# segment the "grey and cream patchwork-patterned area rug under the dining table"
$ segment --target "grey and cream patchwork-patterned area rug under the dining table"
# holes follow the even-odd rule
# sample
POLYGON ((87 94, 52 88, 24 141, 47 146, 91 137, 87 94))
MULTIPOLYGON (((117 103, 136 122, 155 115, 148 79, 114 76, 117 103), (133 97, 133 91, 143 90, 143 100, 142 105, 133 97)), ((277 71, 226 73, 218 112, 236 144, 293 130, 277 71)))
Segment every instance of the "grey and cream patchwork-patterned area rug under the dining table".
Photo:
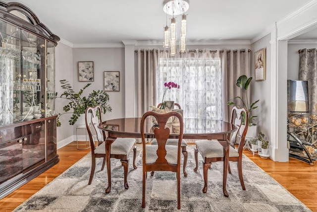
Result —
POLYGON ((123 187, 123 166, 118 159, 111 159, 112 187, 109 194, 105 193, 106 168, 100 171, 102 158, 97 158, 96 173, 92 184, 88 185, 91 168, 91 153, 88 153, 14 212, 310 212, 245 155, 243 176, 246 191, 241 188, 236 163, 230 162, 229 197, 224 197, 223 163, 216 162, 208 172, 208 191, 204 194, 202 158, 199 155, 199 169, 194 172, 193 145, 188 146, 188 176, 181 175, 181 209, 177 210, 175 174, 162 171, 153 177, 148 173, 146 208, 142 209, 142 145, 138 144, 137 149, 136 170, 132 167, 133 154, 130 155, 128 190, 123 187))

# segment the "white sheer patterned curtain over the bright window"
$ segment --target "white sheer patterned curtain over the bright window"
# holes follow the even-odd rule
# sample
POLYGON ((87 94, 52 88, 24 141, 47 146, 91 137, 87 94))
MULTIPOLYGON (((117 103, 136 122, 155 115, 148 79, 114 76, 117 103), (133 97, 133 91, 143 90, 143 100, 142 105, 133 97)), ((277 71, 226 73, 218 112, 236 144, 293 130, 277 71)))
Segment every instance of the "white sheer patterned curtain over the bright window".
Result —
POLYGON ((157 103, 162 101, 164 82, 175 82, 180 89, 168 90, 164 100, 173 100, 184 110, 186 132, 199 132, 210 121, 223 119, 223 90, 219 51, 204 49, 187 51, 169 57, 166 50, 159 53, 157 71, 157 103))

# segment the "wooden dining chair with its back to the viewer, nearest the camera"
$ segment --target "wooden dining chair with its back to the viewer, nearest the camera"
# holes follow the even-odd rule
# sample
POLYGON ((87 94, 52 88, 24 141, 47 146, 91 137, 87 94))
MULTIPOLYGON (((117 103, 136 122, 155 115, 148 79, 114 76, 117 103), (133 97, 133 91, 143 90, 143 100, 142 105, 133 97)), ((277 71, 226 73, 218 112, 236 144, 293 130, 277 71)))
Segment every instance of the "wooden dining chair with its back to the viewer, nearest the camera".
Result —
POLYGON ((142 208, 145 208, 145 188, 147 172, 149 171, 171 171, 176 173, 177 180, 177 209, 180 209, 180 151, 183 139, 183 118, 180 113, 169 112, 158 114, 153 111, 146 112, 141 119, 141 137, 143 144, 143 191, 142 191, 142 208), (155 125, 153 133, 157 139, 158 145, 147 145, 145 134, 148 133, 144 129, 144 123, 148 116, 153 116, 158 124, 155 125), (169 117, 175 116, 180 122, 179 134, 173 134, 178 137, 177 145, 167 145, 167 139, 171 132, 169 128, 165 128, 169 117))

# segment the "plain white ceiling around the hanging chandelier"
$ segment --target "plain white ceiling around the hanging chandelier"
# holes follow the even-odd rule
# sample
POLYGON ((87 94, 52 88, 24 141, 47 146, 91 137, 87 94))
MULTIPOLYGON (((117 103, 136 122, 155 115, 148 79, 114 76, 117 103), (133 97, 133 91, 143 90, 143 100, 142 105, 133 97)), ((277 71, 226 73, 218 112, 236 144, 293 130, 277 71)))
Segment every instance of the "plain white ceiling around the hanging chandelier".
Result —
MULTIPOLYGON (((163 0, 13 1, 29 7, 54 34, 73 45, 161 42, 166 25, 163 0)), ((190 0, 187 41, 250 41, 310 1, 190 0)))

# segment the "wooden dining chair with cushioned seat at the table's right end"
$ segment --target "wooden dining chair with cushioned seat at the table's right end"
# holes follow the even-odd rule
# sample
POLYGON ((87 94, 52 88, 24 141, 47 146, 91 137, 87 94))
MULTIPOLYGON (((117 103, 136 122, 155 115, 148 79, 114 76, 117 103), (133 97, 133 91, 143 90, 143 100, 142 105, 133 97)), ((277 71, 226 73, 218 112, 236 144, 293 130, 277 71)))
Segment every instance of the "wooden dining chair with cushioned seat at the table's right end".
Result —
MULTIPOLYGON (((240 126, 242 123, 242 120, 249 120, 249 114, 246 111, 246 109, 238 109, 237 107, 233 107, 231 110, 231 121, 230 123, 237 126, 238 130, 233 133, 233 136, 228 138, 228 141, 230 141, 229 145, 229 161, 235 161, 237 162, 237 168, 238 168, 238 174, 240 183, 243 190, 246 190, 244 182, 243 182, 243 176, 242 176, 242 150, 244 141, 246 138, 246 134, 248 131, 248 125, 246 125, 245 129, 243 130, 243 133, 241 134, 240 141, 238 143, 238 148, 235 148, 234 143, 237 141, 237 135, 240 130, 240 126)), ((228 135, 230 137, 230 135, 228 135)), ((204 188, 203 192, 207 192, 207 186, 208 186, 208 169, 211 167, 212 162, 217 161, 223 161, 224 160, 224 149, 223 146, 216 140, 200 140, 195 141, 196 143, 196 149, 195 149, 195 161, 196 161, 196 167, 194 171, 196 172, 198 170, 198 152, 203 157, 203 173, 204 173, 204 188)), ((231 174, 230 165, 228 166, 228 172, 231 174)))

